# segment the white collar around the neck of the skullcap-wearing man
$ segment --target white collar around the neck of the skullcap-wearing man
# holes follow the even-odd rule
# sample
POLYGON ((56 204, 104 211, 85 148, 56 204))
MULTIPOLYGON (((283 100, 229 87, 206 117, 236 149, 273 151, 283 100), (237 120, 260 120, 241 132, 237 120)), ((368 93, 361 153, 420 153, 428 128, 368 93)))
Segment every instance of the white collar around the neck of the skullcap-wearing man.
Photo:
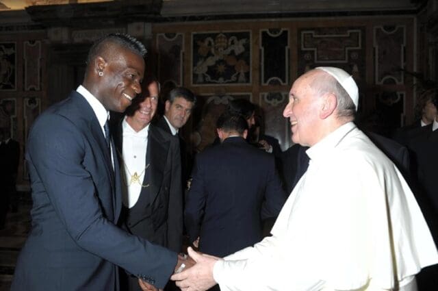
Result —
POLYGON ((307 155, 309 155, 310 159, 313 162, 315 160, 320 160, 327 155, 330 155, 330 153, 327 152, 327 149, 332 149, 333 147, 336 147, 336 145, 344 138, 344 136, 346 136, 348 132, 352 131, 352 129, 355 128, 356 125, 352 122, 341 125, 331 134, 314 144, 313 147, 307 149, 307 155))

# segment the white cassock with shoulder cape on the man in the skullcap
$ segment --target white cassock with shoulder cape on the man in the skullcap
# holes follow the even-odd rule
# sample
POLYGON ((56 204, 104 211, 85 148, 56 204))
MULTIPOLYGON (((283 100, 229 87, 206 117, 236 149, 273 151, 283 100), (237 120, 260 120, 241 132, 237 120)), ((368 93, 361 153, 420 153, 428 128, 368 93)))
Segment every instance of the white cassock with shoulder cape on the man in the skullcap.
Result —
POLYGON ((272 237, 216 262, 227 290, 410 290, 438 263, 420 207, 394 164, 354 123, 307 154, 309 168, 272 237))

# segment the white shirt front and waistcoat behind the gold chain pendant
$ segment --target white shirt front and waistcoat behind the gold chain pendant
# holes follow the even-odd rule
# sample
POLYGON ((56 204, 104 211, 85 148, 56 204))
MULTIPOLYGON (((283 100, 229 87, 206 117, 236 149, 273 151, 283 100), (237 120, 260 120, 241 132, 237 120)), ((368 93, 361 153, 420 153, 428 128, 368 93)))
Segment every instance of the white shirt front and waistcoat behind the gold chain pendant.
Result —
POLYGON ((123 129, 123 205, 133 207, 136 205, 146 173, 146 149, 148 147, 149 125, 136 132, 127 123, 126 118, 122 122, 123 129), (138 181, 132 177, 137 173, 138 181))

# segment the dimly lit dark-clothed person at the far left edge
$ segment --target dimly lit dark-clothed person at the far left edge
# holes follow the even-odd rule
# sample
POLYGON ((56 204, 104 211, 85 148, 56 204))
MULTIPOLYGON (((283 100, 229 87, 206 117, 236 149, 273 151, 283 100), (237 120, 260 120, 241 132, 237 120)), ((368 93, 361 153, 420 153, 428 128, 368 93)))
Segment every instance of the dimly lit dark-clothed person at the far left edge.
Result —
POLYGON ((10 205, 16 212, 16 177, 20 160, 20 144, 11 138, 10 129, 0 128, 0 229, 5 227, 10 205))

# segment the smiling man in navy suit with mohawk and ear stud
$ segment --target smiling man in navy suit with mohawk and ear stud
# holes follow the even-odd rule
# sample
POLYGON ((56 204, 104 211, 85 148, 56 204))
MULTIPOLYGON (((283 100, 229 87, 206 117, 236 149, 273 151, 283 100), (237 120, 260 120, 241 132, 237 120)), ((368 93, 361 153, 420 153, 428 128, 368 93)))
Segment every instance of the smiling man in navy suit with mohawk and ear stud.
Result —
POLYGON ((26 153, 32 227, 12 291, 118 290, 118 266, 164 288, 181 266, 174 251, 116 226, 122 194, 108 111, 140 94, 145 53, 125 34, 98 40, 83 84, 35 121, 26 153))

